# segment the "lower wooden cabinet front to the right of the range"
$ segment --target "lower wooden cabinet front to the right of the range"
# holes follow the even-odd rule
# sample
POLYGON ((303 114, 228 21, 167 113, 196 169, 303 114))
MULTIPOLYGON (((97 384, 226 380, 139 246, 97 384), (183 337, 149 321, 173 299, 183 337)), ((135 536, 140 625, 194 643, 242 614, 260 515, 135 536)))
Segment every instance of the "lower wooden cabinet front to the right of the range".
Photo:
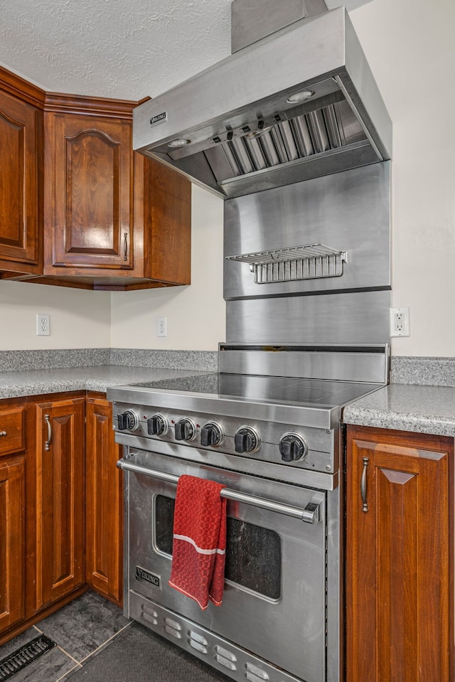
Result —
POLYGON ((452 440, 348 427, 347 678, 449 681, 452 440))

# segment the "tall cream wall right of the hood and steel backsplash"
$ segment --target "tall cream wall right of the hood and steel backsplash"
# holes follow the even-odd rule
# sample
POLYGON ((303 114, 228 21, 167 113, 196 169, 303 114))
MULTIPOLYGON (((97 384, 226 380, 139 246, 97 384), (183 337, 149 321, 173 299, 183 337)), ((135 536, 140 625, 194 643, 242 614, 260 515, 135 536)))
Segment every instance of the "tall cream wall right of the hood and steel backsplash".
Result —
POLYGON ((393 123, 393 355, 455 356, 454 0, 374 0, 350 14, 393 123))

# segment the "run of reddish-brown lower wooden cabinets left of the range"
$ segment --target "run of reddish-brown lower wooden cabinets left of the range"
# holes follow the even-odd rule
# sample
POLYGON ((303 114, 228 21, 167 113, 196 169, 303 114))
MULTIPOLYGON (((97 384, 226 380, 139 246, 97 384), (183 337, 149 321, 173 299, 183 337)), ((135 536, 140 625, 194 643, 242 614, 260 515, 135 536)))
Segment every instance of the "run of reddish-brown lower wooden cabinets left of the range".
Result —
POLYGON ((104 394, 0 400, 0 645, 87 585, 122 604, 120 456, 104 394))

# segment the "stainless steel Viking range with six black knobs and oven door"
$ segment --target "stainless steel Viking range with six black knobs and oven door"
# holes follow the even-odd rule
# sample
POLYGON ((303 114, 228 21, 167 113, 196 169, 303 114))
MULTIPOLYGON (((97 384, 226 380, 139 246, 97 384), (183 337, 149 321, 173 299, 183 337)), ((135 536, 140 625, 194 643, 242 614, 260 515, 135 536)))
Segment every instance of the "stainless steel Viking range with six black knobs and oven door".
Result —
POLYGON ((387 347, 223 345, 220 368, 109 390, 125 446, 125 614, 238 682, 338 680, 340 411, 385 383, 387 347), (286 375, 250 373, 260 366, 286 375), (318 378, 325 366, 333 380, 318 378), (181 474, 226 486, 225 595, 206 611, 168 586, 181 474))

